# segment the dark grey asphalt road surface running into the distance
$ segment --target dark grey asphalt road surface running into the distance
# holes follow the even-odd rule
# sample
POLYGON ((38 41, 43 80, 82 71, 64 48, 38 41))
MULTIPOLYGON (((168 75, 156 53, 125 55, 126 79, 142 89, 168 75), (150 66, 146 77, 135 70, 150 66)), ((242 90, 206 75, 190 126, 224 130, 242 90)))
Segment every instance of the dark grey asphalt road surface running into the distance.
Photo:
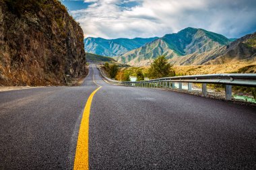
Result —
POLYGON ((0 169, 73 169, 96 84, 90 169, 256 169, 256 108, 110 85, 95 66, 81 87, 0 92, 0 169))

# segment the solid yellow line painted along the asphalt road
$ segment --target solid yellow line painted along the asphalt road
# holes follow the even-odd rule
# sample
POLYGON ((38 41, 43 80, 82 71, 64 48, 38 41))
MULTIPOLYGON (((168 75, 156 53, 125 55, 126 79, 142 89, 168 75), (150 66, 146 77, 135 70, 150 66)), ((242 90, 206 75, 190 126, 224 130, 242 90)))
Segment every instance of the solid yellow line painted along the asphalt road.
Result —
POLYGON ((73 169, 89 169, 89 118, 90 108, 94 94, 101 88, 94 90, 89 96, 84 108, 75 151, 75 162, 73 169))

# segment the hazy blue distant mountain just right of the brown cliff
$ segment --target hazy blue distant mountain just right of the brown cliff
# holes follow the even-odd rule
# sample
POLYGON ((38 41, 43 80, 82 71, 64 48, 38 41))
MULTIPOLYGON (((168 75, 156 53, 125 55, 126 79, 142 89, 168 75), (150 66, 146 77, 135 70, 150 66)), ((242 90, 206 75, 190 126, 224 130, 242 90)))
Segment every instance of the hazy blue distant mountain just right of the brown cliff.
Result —
POLYGON ((130 50, 139 48, 148 42, 152 42, 153 40, 156 40, 156 38, 157 37, 133 39, 117 38, 113 40, 106 40, 104 38, 89 37, 84 40, 84 48, 86 52, 93 54, 102 56, 119 56, 130 50))

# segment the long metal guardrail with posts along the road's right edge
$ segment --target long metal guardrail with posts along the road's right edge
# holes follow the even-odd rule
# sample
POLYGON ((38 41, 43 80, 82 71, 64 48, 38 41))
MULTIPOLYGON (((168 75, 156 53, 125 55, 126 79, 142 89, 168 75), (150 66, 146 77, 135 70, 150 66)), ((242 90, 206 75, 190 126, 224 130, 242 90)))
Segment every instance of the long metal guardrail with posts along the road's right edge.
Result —
POLYGON ((256 87, 256 74, 214 74, 214 75, 187 75, 177 77, 164 77, 149 81, 124 81, 123 85, 138 87, 170 87, 174 88, 174 83, 188 83, 188 90, 192 90, 192 83, 202 83, 203 95, 207 95, 207 83, 226 85, 226 99, 232 98, 232 85, 256 87))

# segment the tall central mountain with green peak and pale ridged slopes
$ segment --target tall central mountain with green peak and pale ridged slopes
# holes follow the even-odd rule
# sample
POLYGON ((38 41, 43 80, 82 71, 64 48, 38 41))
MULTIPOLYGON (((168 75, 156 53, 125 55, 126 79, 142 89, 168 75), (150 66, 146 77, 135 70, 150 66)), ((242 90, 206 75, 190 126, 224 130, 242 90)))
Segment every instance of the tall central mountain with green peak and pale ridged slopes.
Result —
POLYGON ((128 65, 149 65, 159 55, 166 55, 166 58, 169 59, 181 58, 181 56, 189 54, 201 54, 216 50, 226 44, 230 44, 230 40, 220 34, 203 29, 185 28, 177 34, 166 34, 162 38, 115 58, 128 65))

